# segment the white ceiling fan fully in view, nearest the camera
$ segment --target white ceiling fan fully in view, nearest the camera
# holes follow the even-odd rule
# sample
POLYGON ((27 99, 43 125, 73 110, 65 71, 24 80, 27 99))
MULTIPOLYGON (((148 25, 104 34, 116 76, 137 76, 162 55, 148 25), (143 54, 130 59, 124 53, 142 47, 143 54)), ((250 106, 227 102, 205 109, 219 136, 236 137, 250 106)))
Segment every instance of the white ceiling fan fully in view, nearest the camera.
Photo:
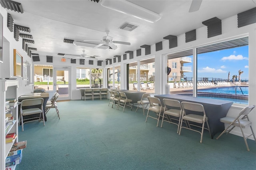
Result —
POLYGON ((117 49, 117 46, 114 43, 120 43, 124 45, 131 45, 129 42, 119 42, 119 41, 113 41, 113 38, 108 36, 110 32, 106 31, 107 36, 103 36, 102 40, 84 40, 84 42, 100 42, 98 45, 96 45, 93 48, 98 48, 102 45, 108 45, 112 49, 117 49))

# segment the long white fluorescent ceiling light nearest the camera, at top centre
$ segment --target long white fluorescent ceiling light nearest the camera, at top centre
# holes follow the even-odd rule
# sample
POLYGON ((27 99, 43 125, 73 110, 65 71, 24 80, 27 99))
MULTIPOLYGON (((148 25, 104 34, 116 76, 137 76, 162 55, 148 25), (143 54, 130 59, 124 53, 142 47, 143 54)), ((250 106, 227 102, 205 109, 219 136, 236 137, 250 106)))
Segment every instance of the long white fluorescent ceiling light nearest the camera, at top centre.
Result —
POLYGON ((142 8, 141 6, 133 4, 127 0, 101 0, 100 4, 111 10, 115 10, 117 12, 121 12, 123 14, 127 14, 151 23, 156 22, 161 18, 159 14, 147 10, 146 8, 142 8))

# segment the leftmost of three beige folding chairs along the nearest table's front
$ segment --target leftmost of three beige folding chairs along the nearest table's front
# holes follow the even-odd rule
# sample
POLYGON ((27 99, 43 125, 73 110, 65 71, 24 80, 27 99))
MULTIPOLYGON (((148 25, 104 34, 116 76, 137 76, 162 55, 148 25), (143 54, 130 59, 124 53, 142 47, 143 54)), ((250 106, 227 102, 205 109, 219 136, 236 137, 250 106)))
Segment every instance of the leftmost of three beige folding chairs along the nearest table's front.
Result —
POLYGON ((148 96, 148 101, 150 102, 150 107, 148 108, 146 122, 148 120, 148 117, 156 119, 157 120, 156 126, 158 127, 159 119, 162 116, 161 113, 164 111, 164 107, 162 107, 161 101, 157 97, 148 96), (150 116, 149 111, 156 113, 156 117, 150 116))

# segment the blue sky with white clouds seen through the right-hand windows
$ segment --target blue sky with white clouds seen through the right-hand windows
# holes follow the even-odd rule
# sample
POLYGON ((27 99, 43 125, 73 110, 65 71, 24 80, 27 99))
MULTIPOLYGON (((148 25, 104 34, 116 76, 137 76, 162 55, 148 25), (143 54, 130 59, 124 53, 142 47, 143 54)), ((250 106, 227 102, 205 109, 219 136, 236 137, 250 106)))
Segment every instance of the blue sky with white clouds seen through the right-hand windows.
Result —
MULTIPOLYGON (((233 75, 237 75, 238 78, 238 70, 241 70, 244 71, 241 79, 248 79, 248 58, 248 45, 198 54, 198 77, 228 79, 230 71, 230 79, 232 79, 233 75)), ((192 63, 184 64, 184 66, 193 68, 192 63)), ((192 73, 184 74, 186 77, 192 77, 192 73)))

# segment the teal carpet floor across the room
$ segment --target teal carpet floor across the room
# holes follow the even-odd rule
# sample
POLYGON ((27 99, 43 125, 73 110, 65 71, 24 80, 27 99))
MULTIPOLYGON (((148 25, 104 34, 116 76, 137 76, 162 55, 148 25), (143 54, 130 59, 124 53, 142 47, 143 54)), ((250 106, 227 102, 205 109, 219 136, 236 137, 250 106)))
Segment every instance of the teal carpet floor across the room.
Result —
MULTIPOLYGON (((136 107, 108 107, 108 100, 58 102, 47 113, 46 125, 19 127, 18 140, 27 140, 16 170, 252 170, 256 144, 233 134, 216 140, 143 115, 136 107)), ((255 126, 255 125, 254 125, 255 126)))

